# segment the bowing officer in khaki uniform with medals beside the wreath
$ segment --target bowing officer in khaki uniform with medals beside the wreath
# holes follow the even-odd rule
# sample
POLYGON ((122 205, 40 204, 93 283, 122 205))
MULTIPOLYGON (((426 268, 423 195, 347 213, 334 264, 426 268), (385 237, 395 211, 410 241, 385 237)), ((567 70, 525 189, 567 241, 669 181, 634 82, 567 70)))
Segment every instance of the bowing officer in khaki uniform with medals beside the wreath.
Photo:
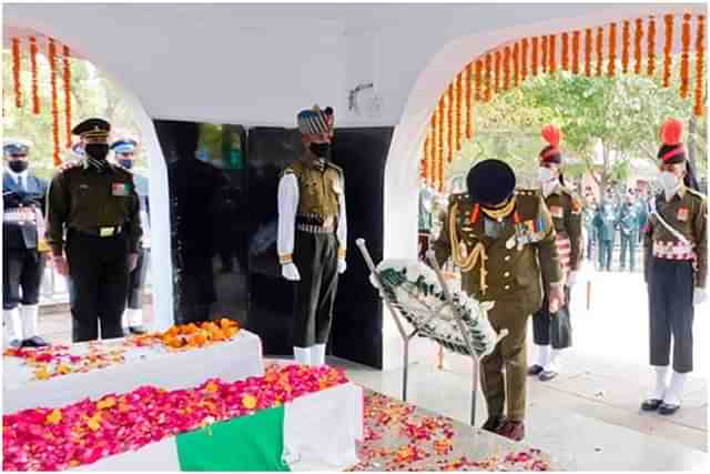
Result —
POLYGON ((539 191, 515 185, 515 174, 503 161, 476 164, 467 177, 468 193, 450 198, 434 250, 440 265, 452 256, 462 269, 464 291, 495 302, 488 312, 493 327, 508 330, 481 360, 488 405, 484 430, 519 441, 525 436, 528 316, 542 304, 542 279, 549 282, 552 313, 564 291, 552 218, 539 191))

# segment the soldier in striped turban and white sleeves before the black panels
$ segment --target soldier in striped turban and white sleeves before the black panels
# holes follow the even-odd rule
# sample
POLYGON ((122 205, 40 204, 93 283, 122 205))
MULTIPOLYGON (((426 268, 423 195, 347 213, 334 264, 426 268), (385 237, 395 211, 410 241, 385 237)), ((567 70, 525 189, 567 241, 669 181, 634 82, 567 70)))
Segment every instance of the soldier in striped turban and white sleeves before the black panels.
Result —
POLYGON ((305 365, 325 363, 337 275, 345 272, 347 221, 345 177, 329 162, 333 109, 297 117, 302 158, 278 182, 278 260, 295 284, 294 356, 305 365))

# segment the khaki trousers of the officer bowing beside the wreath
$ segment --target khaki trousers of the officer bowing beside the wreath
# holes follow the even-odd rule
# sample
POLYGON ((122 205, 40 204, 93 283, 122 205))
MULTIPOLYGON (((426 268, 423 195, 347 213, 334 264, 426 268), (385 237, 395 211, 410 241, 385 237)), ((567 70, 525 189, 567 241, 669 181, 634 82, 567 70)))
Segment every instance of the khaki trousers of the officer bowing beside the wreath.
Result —
POLYGON ((481 360, 480 382, 488 416, 501 416, 521 422, 525 418, 527 387, 527 322, 528 315, 515 309, 515 302, 496 302, 488 320, 496 332, 504 327, 508 335, 481 360))

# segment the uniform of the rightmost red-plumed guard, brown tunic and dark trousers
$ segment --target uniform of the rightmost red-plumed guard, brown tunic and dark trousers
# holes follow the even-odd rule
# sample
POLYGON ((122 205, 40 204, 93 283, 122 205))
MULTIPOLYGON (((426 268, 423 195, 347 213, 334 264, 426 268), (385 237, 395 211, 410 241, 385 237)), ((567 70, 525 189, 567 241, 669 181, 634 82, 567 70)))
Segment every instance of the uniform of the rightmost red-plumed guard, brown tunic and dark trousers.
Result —
POLYGON ((681 234, 682 242, 651 214, 643 234, 645 275, 649 293, 650 362, 670 364, 673 340, 673 371, 692 371, 693 289, 708 279, 708 204, 706 198, 687 188, 666 201, 656 196, 663 221, 681 234))

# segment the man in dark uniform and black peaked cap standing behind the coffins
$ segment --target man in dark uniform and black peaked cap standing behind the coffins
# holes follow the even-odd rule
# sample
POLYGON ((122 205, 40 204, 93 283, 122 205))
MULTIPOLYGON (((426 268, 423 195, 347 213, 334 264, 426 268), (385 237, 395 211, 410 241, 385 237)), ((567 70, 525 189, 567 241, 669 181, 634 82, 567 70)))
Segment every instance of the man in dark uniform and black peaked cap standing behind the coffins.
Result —
POLYGON ((129 272, 141 248, 133 175, 106 161, 110 130, 101 119, 74 127, 85 159, 60 170, 48 193, 48 242, 57 270, 73 285, 74 342, 98 339, 99 322, 102 339, 123 336, 129 272))

